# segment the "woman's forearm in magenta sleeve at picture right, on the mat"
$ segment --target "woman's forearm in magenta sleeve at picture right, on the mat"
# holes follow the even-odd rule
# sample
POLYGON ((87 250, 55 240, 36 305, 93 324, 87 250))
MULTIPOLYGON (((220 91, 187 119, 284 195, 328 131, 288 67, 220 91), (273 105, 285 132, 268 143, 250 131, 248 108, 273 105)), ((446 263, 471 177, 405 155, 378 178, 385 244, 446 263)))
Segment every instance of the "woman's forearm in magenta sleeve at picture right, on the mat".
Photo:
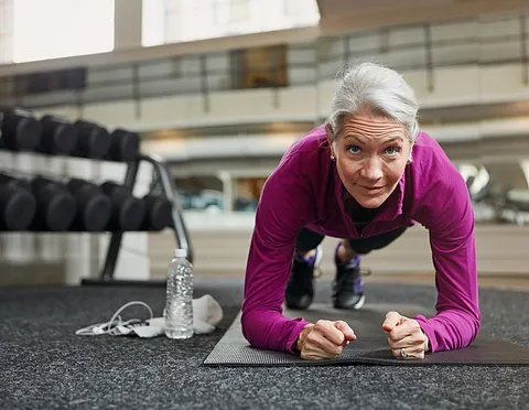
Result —
POLYGON ((481 325, 477 310, 464 312, 450 309, 431 319, 422 315, 414 319, 429 338, 431 352, 467 347, 475 339, 481 325))

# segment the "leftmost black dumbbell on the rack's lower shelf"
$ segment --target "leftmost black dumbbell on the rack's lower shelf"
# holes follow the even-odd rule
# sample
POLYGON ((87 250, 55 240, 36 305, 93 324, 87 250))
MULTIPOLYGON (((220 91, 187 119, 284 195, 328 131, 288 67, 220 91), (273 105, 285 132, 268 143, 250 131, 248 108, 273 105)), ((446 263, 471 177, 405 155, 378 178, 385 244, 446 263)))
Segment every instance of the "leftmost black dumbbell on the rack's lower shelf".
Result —
POLYGON ((35 211, 36 201, 28 182, 0 174, 0 230, 26 230, 35 211))

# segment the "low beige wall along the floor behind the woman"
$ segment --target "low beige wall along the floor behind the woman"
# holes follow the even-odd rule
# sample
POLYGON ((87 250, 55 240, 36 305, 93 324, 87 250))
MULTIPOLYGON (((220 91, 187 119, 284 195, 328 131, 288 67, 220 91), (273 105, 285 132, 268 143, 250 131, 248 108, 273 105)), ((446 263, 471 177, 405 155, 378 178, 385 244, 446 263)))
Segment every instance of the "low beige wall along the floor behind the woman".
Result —
MULTIPOLYGON (((245 273, 253 215, 218 217, 190 212, 186 220, 192 233, 198 276, 241 277, 245 273)), ((528 226, 478 224, 475 231, 479 274, 529 274, 529 253, 520 246, 527 242, 528 226)), ((331 237, 326 237, 322 244, 322 269, 327 279, 334 274, 333 252, 336 244, 337 239, 331 237)), ((171 231, 150 236, 151 276, 162 277, 166 273, 172 248, 174 238, 171 231)), ((428 231, 421 226, 408 229, 387 248, 365 256, 363 265, 373 269, 374 274, 433 272, 428 231)))

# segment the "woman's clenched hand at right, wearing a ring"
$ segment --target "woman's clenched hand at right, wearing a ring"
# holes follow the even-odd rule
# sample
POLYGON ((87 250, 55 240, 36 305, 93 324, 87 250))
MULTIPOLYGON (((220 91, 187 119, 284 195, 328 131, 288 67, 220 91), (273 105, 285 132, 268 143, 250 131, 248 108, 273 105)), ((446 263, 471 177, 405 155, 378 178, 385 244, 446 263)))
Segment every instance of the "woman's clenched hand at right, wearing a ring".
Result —
POLYGON ((398 359, 423 359, 428 349, 428 337, 422 332, 419 322, 388 312, 382 328, 388 335, 388 344, 393 357, 398 359))

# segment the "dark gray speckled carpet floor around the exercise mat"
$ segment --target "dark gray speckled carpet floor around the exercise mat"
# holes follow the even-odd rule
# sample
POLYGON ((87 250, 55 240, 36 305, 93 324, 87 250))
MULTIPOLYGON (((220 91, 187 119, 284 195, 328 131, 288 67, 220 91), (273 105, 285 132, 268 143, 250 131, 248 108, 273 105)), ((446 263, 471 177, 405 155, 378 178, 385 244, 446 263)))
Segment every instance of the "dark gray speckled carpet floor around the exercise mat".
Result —
MULTIPOLYGON (((202 365, 237 314, 241 281, 197 280, 225 317, 187 341, 77 336, 139 300, 155 315, 162 288, 0 290, 0 409, 528 409, 529 367, 202 365)), ((435 290, 368 284, 370 301, 433 306, 435 290)), ((317 283, 327 301, 330 283, 317 283)), ((529 293, 482 290, 483 331, 529 348, 529 293)), ((143 316, 130 308, 125 316, 143 316)))

